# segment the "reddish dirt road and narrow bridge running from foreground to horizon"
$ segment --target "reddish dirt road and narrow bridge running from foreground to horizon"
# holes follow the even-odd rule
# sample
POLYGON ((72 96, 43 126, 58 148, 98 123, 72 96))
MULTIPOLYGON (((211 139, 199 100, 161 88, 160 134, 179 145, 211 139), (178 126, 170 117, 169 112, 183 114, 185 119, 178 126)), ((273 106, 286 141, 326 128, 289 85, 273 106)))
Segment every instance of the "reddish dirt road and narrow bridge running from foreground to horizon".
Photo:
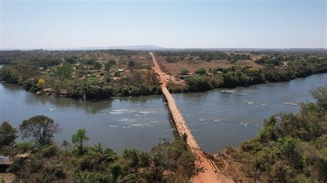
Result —
POLYGON ((150 55, 152 56, 152 61, 153 64, 155 65, 155 72, 159 74, 159 78, 162 83, 161 89, 168 101, 168 107, 172 114, 172 118, 174 118, 175 120, 177 131, 180 135, 186 133, 186 135, 188 136, 187 139, 188 145, 192 149, 192 152, 195 153, 195 155, 197 155, 198 157, 197 166, 203 169, 203 171, 199 172, 198 175, 192 177, 192 182, 233 182, 230 178, 226 177, 225 175, 216 172, 215 168, 210 164, 209 160, 206 158, 206 155, 204 155, 204 153, 201 151, 199 144, 197 144, 197 141, 192 136, 190 129, 188 129, 186 120, 184 120, 184 117, 181 115, 181 112, 177 108, 174 98, 166 88, 166 84, 169 76, 161 71, 161 68, 157 63, 154 54, 150 52, 150 55))

